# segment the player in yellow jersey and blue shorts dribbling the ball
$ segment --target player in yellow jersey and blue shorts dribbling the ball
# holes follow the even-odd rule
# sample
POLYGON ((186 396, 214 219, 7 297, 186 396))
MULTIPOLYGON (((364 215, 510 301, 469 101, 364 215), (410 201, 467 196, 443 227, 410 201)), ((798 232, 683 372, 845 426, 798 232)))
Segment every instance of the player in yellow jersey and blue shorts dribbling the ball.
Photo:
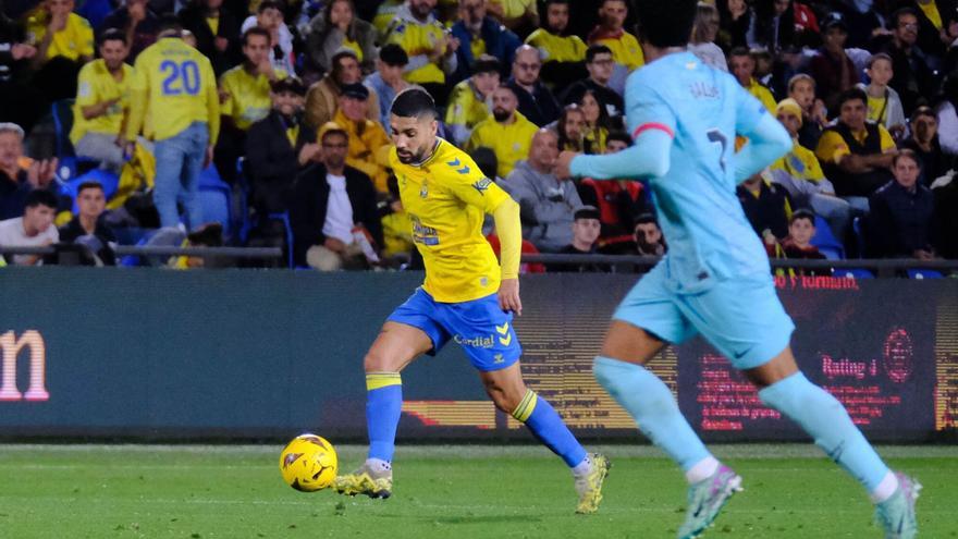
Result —
POLYGON ((449 341, 463 346, 495 406, 512 414, 573 469, 578 513, 602 500, 609 461, 587 454, 554 408, 526 388, 523 348, 512 327, 519 299, 519 206, 486 177, 465 152, 435 136, 435 103, 422 88, 393 100, 390 161, 400 198, 413 222, 413 241, 426 265, 426 282, 386 320, 366 354, 369 453, 353 474, 336 478, 342 494, 389 498, 396 427, 403 407, 400 371, 449 341), (502 242, 502 267, 482 236, 491 213, 502 242))

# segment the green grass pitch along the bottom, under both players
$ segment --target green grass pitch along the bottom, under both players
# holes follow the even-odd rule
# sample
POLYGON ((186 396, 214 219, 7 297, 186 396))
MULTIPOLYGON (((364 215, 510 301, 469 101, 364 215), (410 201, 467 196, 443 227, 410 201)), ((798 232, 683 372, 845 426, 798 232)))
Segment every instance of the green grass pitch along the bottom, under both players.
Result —
MULTIPOLYGON (((680 473, 652 448, 598 448, 613 462, 599 513, 573 514, 562 462, 538 446, 402 446, 390 500, 296 492, 282 448, 0 445, 0 537, 674 537, 680 473)), ((364 449, 340 446, 341 471, 364 449)), ((745 478, 705 537, 870 538, 865 494, 803 445, 718 445, 745 478)), ((921 536, 958 537, 958 448, 893 446, 882 454, 924 485, 921 536)))

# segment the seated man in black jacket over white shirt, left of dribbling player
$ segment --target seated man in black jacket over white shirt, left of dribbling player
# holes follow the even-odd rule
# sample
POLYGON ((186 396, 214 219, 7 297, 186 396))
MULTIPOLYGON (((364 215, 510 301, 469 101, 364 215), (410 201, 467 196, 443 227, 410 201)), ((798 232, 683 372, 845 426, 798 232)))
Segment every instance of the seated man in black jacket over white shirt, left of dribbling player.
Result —
POLYGON ((340 125, 322 125, 319 140, 322 162, 302 171, 293 186, 294 262, 323 271, 366 268, 383 245, 376 187, 346 166, 349 137, 340 125))

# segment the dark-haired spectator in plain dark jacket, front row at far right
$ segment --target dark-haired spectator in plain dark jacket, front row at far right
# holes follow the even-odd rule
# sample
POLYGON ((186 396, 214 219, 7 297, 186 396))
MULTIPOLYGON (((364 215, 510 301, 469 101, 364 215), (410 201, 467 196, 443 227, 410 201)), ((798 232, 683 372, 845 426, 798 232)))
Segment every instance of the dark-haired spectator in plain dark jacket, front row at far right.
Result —
POLYGON ((892 161, 895 180, 871 196, 865 243, 869 256, 879 258, 935 258, 935 200, 932 192, 918 183, 918 156, 904 149, 892 161))

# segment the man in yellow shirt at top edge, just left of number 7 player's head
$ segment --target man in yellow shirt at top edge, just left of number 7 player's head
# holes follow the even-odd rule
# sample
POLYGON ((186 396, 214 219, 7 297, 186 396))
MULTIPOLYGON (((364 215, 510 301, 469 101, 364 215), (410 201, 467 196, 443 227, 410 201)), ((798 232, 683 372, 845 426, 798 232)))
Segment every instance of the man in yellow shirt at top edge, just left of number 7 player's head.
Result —
POLYGON ((646 63, 639 40, 623 28, 626 16, 626 0, 600 0, 599 25, 592 29, 588 39, 589 45, 604 45, 612 51, 615 70, 612 72, 610 86, 619 94, 625 93, 628 74, 646 63))

